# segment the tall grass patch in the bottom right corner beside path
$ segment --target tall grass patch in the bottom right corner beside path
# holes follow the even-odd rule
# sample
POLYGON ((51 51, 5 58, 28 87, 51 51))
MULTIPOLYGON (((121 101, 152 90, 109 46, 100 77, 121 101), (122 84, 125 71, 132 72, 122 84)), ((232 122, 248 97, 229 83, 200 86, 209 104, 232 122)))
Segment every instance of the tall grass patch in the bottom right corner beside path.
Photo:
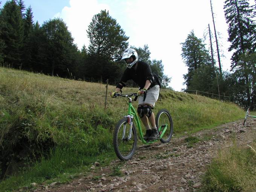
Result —
MULTIPOLYGON (((256 149, 256 140, 250 144, 256 149)), ((246 146, 219 150, 203 177, 203 191, 254 192, 256 189, 256 152, 246 146)))

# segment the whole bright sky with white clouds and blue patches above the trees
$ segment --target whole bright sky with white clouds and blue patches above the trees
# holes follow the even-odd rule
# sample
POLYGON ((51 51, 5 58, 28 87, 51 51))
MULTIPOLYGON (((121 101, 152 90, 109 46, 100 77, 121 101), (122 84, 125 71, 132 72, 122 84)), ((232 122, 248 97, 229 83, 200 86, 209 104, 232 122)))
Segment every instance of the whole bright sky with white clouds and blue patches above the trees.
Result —
MULTIPOLYGON (((0 1, 2 8, 6 0, 0 1)), ((254 0, 249 3, 253 5, 254 0)), ((187 67, 181 57, 181 43, 192 30, 196 37, 203 39, 208 24, 214 35, 210 0, 24 0, 24 4, 31 6, 34 21, 40 24, 55 17, 62 18, 79 49, 89 45, 86 30, 93 15, 106 9, 130 37, 129 45, 143 47, 147 44, 151 59, 162 60, 165 75, 171 77, 169 86, 175 91, 186 88, 183 75, 187 67)), ((230 71, 232 52, 228 52, 224 0, 212 0, 212 5, 218 43, 224 55, 221 57, 222 71, 230 71)), ((215 40, 212 41, 216 51, 215 40)), ((209 49, 209 35, 204 43, 209 49)), ((216 53, 214 57, 217 61, 216 53)))

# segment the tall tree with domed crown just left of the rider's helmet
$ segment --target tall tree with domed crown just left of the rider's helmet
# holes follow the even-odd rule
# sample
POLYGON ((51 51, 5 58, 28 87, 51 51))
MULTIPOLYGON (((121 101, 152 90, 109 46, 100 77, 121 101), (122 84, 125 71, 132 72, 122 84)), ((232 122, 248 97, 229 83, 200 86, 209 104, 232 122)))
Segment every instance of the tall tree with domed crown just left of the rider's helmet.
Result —
POLYGON ((98 81, 109 79, 113 83, 120 70, 120 65, 114 61, 120 61, 129 37, 106 10, 93 16, 87 36, 90 44, 85 75, 98 81))

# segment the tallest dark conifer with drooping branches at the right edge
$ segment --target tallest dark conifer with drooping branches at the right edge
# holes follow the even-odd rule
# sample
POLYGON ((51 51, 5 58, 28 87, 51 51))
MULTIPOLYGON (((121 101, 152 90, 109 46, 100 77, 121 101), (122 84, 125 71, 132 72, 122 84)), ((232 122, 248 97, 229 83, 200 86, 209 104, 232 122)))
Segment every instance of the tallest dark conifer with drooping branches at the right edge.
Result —
POLYGON ((232 55, 232 70, 240 72, 245 79, 245 89, 247 94, 247 104, 251 108, 254 108, 252 104, 252 93, 250 80, 250 74, 248 73, 248 63, 243 59, 247 54, 255 53, 256 49, 256 25, 255 21, 251 18, 253 15, 253 9, 249 6, 247 0, 226 0, 225 5, 225 17, 229 24, 229 41, 232 43, 229 47, 229 51, 234 50, 232 55))

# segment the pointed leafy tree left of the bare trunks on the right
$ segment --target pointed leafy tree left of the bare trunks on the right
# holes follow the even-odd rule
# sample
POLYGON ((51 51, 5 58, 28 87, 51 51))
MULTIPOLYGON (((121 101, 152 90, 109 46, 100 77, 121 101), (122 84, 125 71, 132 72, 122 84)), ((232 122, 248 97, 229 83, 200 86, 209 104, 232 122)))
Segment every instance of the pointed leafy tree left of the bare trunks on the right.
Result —
MULTIPOLYGON (((202 71, 199 70, 200 67, 210 66, 212 67, 211 57, 208 51, 203 44, 203 41, 197 38, 192 30, 190 34, 187 36, 186 41, 181 43, 182 45, 182 53, 181 56, 186 66, 188 67, 188 73, 183 75, 187 89, 191 87, 191 83, 193 82, 194 75, 199 75, 202 71)), ((213 75, 214 75, 214 70, 213 75)), ((204 81, 204 79, 201 79, 204 81)), ((210 86, 210 85, 209 85, 210 86)), ((204 88, 204 90, 207 88, 204 88)))

